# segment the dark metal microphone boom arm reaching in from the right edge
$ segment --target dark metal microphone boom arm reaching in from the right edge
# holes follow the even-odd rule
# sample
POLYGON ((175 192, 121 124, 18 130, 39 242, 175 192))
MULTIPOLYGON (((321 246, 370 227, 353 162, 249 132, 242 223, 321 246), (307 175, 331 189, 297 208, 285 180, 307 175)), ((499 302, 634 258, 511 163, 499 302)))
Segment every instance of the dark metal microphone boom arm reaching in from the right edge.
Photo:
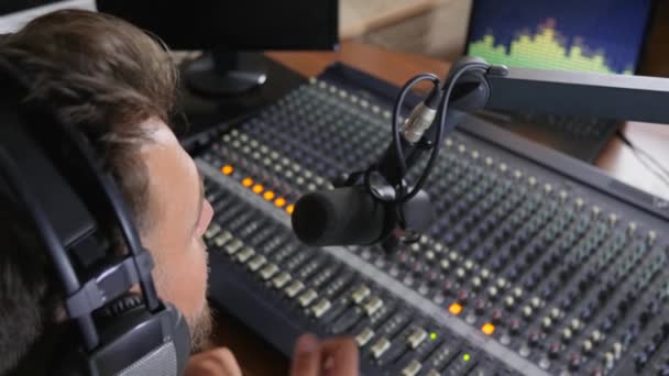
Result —
MULTIPOLYGON (((462 57, 450 71, 479 58, 462 57)), ((447 82, 448 84, 448 82, 447 82)), ((669 123, 669 79, 491 65, 454 82, 450 107, 463 112, 508 110, 669 123)), ((451 111, 452 112, 452 111, 451 111)), ((448 113, 447 129, 462 120, 448 113)), ((431 136, 436 123, 426 132, 431 136)))

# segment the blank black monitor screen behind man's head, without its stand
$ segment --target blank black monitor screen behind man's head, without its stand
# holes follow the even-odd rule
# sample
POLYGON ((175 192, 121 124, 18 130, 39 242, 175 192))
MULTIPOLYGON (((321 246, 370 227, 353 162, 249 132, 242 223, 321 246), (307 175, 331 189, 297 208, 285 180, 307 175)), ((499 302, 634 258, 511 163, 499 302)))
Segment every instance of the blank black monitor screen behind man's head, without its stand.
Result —
POLYGON ((98 0, 98 10, 176 49, 331 49, 338 43, 337 0, 98 0))

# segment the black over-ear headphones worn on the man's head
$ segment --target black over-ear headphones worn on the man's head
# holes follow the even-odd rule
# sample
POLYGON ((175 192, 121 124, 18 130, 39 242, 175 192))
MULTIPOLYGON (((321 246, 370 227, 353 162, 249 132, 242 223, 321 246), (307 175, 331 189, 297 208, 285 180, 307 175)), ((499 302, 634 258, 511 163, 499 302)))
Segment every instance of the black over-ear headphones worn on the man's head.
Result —
POLYGON ((64 353, 52 371, 180 375, 190 354, 188 325, 158 299, 153 258, 114 178, 88 137, 52 106, 23 102, 29 88, 26 76, 0 55, 0 192, 37 230, 74 328, 74 345, 58 346, 64 353), (111 250, 110 229, 121 234, 125 254, 111 250), (141 296, 129 292, 136 284, 141 296))

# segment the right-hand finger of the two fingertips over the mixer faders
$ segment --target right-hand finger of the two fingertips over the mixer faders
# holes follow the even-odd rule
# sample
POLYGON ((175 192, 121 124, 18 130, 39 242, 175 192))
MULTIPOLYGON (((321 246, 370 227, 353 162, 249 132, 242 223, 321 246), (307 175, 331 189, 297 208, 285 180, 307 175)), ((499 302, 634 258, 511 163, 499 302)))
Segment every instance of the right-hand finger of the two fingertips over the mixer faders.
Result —
POLYGON ((350 338, 326 340, 320 344, 323 371, 330 376, 358 375, 358 346, 350 338))

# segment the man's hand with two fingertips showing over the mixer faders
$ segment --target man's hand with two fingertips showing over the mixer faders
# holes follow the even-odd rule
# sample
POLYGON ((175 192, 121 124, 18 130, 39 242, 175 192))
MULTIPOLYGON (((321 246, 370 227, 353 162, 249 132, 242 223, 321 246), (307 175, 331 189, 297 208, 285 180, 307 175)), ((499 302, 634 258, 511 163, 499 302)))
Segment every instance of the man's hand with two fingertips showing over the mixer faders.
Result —
POLYGON ((290 376, 358 376, 358 347, 353 340, 319 341, 312 334, 297 340, 290 376))

